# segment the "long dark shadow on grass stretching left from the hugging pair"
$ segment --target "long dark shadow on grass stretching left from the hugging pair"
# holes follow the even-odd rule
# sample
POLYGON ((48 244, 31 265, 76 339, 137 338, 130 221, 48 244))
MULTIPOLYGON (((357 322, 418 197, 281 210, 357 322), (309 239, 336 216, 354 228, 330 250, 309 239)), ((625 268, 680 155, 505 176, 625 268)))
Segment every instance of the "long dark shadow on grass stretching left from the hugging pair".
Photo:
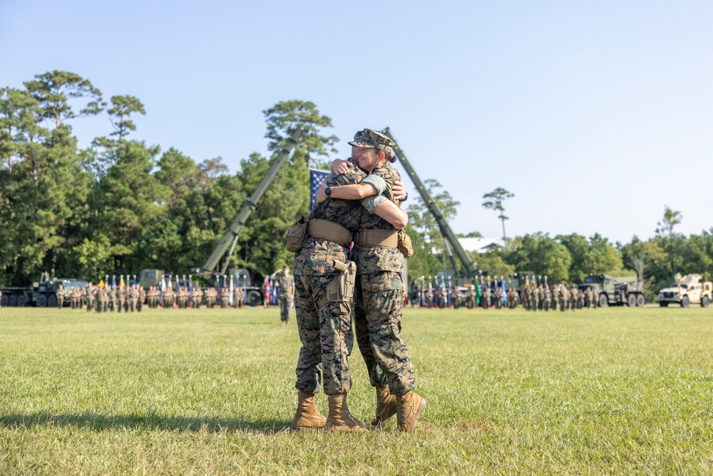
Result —
POLYGON ((5 415, 0 417, 0 426, 19 430, 36 426, 78 427, 93 431, 113 430, 117 428, 137 428, 147 430, 169 430, 180 432, 207 431, 217 432, 253 432, 275 435, 288 431, 292 422, 284 420, 249 421, 240 418, 197 418, 165 417, 160 415, 97 415, 81 413, 64 415, 35 413, 30 415, 5 415))

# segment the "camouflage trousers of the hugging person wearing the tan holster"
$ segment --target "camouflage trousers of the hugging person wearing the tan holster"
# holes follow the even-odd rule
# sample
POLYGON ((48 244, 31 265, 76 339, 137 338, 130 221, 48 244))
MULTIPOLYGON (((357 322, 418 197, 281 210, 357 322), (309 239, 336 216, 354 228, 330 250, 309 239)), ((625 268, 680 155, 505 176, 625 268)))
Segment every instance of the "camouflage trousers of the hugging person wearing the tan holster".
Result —
POLYGON ((301 392, 318 393, 322 364, 324 393, 342 395, 349 391, 349 355, 354 346, 352 303, 327 303, 317 309, 317 302, 327 295, 331 276, 294 276, 294 308, 302 348, 297 360, 297 383, 301 392))

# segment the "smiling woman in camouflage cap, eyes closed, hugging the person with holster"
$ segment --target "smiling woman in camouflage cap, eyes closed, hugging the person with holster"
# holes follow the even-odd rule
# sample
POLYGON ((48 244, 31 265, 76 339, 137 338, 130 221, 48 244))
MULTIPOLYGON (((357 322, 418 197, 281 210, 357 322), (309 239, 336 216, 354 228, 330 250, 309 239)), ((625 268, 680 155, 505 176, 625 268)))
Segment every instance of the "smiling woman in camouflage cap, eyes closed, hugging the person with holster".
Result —
MULTIPOLYGON (((388 198, 393 198, 391 187, 399 179, 399 173, 389 163, 396 161, 394 142, 379 131, 364 129, 354 135, 349 145, 353 146, 356 165, 369 176, 383 178, 388 198)), ((354 188, 358 186, 333 187, 331 196, 355 198, 351 193, 354 188)), ((381 425, 394 415, 395 400, 399 430, 412 432, 426 408, 426 399, 414 392, 414 367, 401 339, 404 255, 398 248, 398 232, 389 221, 376 214, 360 213, 359 232, 352 249, 352 259, 356 261, 354 323, 369 382, 376 388, 376 418, 372 424, 381 425)))

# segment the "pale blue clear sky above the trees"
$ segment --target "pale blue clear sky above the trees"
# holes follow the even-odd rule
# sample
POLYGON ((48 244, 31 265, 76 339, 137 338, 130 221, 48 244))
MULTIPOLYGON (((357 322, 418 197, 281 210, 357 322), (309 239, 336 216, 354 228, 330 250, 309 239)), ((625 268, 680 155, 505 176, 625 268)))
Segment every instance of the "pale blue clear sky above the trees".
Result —
MULTIPOLYGON (((231 172, 268 154, 262 111, 312 101, 330 159, 389 127, 460 202, 455 233, 501 237, 482 206, 501 187, 509 237, 627 243, 665 206, 679 233, 713 227, 711 25, 709 0, 0 0, 0 87, 71 71, 143 102, 131 137, 231 172)), ((72 126, 80 146, 111 132, 107 116, 72 126)))

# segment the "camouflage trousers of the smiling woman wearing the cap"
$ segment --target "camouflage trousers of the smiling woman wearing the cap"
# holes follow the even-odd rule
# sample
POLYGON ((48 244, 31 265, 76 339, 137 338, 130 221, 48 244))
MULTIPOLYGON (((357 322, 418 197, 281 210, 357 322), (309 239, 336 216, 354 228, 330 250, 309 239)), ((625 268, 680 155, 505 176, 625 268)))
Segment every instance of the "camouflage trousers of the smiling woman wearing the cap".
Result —
POLYGON ((401 339, 404 284, 401 273, 356 276, 354 332, 372 386, 389 385, 394 395, 416 387, 409 350, 401 339))

